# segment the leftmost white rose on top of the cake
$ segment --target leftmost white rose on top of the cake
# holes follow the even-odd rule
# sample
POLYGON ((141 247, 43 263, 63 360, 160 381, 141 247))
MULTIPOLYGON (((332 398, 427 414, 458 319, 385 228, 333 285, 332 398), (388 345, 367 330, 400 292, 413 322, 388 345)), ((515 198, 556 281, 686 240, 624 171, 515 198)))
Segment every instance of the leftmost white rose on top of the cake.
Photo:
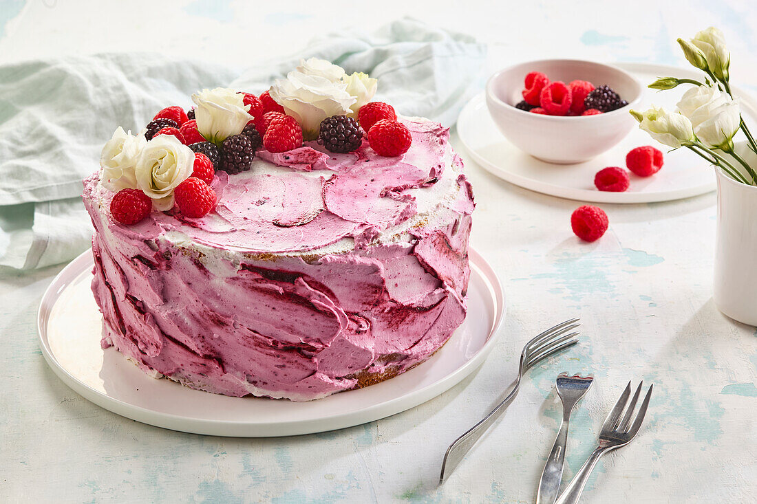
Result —
POLYGON ((104 188, 114 192, 136 188, 134 167, 146 143, 144 134, 134 136, 131 131, 127 133, 118 126, 100 153, 104 188))

